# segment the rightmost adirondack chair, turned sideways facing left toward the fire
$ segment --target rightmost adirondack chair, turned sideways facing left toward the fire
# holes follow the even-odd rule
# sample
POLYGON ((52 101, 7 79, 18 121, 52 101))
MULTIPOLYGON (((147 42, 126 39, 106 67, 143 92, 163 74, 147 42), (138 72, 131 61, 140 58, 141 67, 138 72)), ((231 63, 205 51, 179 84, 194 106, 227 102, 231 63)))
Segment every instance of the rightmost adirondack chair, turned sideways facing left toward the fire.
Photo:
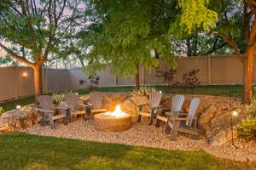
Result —
POLYGON ((191 100, 191 104, 189 107, 189 114, 185 116, 186 114, 181 114, 177 112, 168 112, 166 115, 170 116, 168 118, 168 122, 166 123, 167 127, 171 128, 171 133, 169 135, 169 138, 171 140, 177 140, 177 133, 189 133, 194 136, 198 136, 198 132, 196 129, 197 125, 197 117, 195 116, 195 113, 197 111, 197 108, 200 104, 200 99, 194 98, 191 100), (178 116, 185 116, 185 117, 178 117, 178 116), (181 122, 186 122, 185 126, 182 126, 181 122), (192 123, 194 122, 194 128, 191 127, 192 123))

